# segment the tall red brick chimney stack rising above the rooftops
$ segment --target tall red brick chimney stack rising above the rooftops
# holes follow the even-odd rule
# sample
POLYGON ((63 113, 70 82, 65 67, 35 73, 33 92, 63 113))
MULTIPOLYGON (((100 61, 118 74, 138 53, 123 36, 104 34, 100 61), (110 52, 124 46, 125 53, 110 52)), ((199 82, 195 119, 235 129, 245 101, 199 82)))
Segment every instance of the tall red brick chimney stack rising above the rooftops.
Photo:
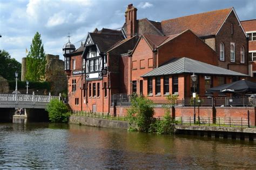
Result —
POLYGON ((125 24, 127 38, 136 36, 137 32, 137 8, 129 4, 125 11, 125 24))

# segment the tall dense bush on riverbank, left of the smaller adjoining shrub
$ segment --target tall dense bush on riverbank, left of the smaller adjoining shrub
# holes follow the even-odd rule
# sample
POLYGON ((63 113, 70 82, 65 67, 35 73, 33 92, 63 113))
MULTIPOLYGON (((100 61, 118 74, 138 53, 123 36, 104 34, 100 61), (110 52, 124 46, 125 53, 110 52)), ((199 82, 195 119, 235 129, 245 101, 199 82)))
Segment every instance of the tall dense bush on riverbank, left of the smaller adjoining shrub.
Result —
POLYGON ((127 109, 127 119, 130 121, 129 130, 149 132, 153 121, 153 102, 143 96, 131 97, 131 107, 127 109))

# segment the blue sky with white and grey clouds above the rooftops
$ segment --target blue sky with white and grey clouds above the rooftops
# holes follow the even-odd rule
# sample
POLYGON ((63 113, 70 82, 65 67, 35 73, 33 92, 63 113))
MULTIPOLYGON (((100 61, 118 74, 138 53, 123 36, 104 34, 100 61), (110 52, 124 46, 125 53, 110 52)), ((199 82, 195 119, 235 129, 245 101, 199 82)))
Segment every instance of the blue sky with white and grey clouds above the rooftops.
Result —
POLYGON ((234 7, 240 20, 256 18, 256 0, 0 0, 0 49, 21 62, 32 38, 41 34, 46 54, 59 55, 70 41, 78 48, 97 27, 120 29, 124 12, 132 3, 137 19, 154 21, 234 7))

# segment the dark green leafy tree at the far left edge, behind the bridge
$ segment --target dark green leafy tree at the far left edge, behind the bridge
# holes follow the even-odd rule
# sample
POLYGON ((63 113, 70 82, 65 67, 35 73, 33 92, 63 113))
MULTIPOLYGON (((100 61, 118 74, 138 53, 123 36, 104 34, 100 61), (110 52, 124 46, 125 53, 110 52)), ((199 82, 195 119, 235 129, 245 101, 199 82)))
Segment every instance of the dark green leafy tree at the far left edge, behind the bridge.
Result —
POLYGON ((11 58, 10 54, 6 51, 0 53, 0 75, 6 80, 14 80, 15 72, 19 73, 19 79, 21 78, 21 63, 11 58))

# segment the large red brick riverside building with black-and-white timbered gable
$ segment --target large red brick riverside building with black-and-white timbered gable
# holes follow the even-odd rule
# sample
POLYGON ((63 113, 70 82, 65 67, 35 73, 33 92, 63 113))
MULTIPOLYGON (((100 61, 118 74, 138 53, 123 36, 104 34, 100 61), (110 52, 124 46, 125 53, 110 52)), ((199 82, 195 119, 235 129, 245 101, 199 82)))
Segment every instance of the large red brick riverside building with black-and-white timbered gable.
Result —
POLYGON ((167 94, 191 97, 193 72, 196 91, 205 96, 207 88, 248 74, 248 42, 240 25, 233 8, 153 22, 137 19, 130 4, 121 31, 96 29, 79 48, 70 42, 63 47, 69 104, 109 113, 113 94, 137 93, 156 103, 167 94))

